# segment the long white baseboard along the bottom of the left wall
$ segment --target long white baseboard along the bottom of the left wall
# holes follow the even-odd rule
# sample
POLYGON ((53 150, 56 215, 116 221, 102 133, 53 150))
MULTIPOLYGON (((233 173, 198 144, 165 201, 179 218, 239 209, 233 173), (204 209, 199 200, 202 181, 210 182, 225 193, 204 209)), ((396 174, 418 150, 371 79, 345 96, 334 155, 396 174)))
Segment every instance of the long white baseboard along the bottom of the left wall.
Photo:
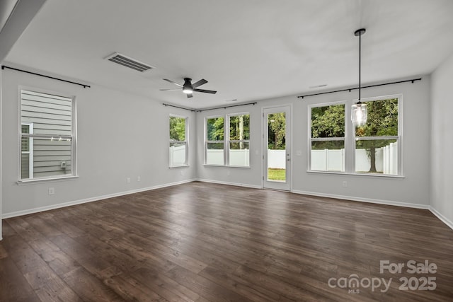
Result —
POLYGON ((128 195, 128 194, 134 194, 134 193, 139 193, 139 192, 144 192, 144 191, 149 191, 149 190, 156 190, 156 189, 160 189, 162 187, 171 187, 173 185, 182 185, 184 183, 193 182, 193 181, 195 181, 195 179, 183 180, 183 181, 179 181, 179 182, 171 182, 171 183, 166 183, 163 185, 155 185, 152 187, 142 187, 137 190, 130 190, 130 191, 124 191, 124 192, 117 192, 117 193, 113 193, 113 194, 106 194, 106 195, 101 195, 101 196, 97 196, 97 197, 90 197, 90 198, 86 198, 86 199, 74 200, 73 202, 63 202, 62 204, 52 204, 50 206, 45 206, 45 207, 26 209, 26 210, 22 210, 22 211, 13 211, 11 213, 3 214, 2 219, 8 219, 8 218, 17 217, 17 216, 38 213, 40 211, 49 211, 52 209, 60 209, 60 208, 64 208, 64 207, 75 206, 76 204, 86 204, 87 202, 96 202, 96 201, 102 200, 102 199, 120 197, 120 196, 124 196, 124 195, 128 195))

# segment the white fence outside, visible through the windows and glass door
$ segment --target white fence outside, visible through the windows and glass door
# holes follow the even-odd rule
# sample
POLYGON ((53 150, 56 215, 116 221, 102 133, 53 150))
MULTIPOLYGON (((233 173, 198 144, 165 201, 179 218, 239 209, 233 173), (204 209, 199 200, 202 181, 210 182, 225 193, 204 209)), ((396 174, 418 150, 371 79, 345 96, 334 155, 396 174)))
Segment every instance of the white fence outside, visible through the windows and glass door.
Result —
MULTIPOLYGON (((250 150, 230 150, 229 164, 250 165, 250 150)), ((268 168, 284 169, 286 167, 285 150, 268 150, 268 168)), ((185 146, 170 148, 170 162, 173 165, 185 163, 185 146)), ((210 165, 224 164, 224 151, 217 149, 207 150, 206 162, 210 165)), ((355 150, 355 170, 368 172, 371 165, 366 149, 355 150)), ((311 170, 317 171, 344 171, 345 149, 340 150, 312 150, 311 170)), ((376 170, 378 173, 398 174, 398 143, 376 149, 376 170)))

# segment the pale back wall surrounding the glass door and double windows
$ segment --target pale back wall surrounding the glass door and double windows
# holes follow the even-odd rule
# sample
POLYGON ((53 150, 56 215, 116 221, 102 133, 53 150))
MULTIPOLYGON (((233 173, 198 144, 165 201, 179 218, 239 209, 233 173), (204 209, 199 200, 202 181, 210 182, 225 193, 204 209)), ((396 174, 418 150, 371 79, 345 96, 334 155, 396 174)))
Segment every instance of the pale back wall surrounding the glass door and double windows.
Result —
MULTIPOLYGON (((308 105, 357 98, 357 91, 297 98, 260 100, 256 105, 204 111, 197 114, 197 161, 203 163, 204 119, 211 115, 224 115, 248 111, 251 114, 251 168, 228 168, 199 165, 198 177, 202 180, 226 182, 251 187, 262 187, 262 131, 263 107, 292 104, 292 191, 321 196, 332 196, 429 207, 430 199, 430 76, 422 81, 380 86, 362 90, 362 98, 384 95, 403 95, 403 175, 404 178, 369 175, 339 175, 309 173, 308 167, 308 105), (428 140, 428 141, 427 141, 428 140), (415 150, 417 150, 415 152, 415 150), (297 151, 301 154, 297 156, 297 151), (348 187, 343 187, 343 181, 348 187)), ((347 158, 352 161, 352 158, 347 158)))

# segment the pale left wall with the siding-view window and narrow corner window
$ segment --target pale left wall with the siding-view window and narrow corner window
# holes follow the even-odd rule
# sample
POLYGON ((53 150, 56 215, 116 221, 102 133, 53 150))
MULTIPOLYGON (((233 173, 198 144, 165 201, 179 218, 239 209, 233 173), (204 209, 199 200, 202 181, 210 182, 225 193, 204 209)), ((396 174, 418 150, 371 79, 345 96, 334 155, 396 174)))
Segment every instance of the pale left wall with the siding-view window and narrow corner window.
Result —
POLYGON ((196 178, 196 144, 190 144, 190 167, 168 168, 168 116, 170 113, 188 116, 189 137, 195 140, 193 112, 165 107, 156 100, 109 88, 96 85, 82 88, 8 69, 2 71, 1 84, 4 216, 196 178), (19 85, 76 95, 79 178, 26 185, 16 183, 19 85), (126 178, 131 178, 131 183, 127 183, 126 178), (49 187, 55 187, 54 195, 48 194, 49 187))

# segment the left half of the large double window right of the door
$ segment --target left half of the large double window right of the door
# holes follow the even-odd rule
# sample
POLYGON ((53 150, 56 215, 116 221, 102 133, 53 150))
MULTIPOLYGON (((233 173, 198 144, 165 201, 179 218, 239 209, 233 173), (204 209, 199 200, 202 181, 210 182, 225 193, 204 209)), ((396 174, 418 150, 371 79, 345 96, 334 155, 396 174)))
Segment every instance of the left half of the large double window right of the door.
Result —
POLYGON ((311 170, 345 171, 345 105, 311 108, 311 170))

